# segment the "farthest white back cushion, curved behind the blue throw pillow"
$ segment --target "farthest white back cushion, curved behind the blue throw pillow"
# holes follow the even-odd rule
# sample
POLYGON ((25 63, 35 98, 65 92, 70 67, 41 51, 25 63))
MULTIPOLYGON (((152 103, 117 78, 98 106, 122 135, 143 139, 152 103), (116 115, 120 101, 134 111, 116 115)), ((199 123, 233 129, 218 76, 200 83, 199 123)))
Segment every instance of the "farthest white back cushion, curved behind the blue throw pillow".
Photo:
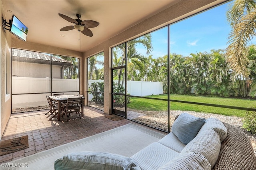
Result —
POLYGON ((225 125, 219 119, 216 119, 214 117, 206 119, 198 134, 207 129, 212 129, 216 131, 220 135, 220 142, 224 141, 228 135, 228 130, 225 125))

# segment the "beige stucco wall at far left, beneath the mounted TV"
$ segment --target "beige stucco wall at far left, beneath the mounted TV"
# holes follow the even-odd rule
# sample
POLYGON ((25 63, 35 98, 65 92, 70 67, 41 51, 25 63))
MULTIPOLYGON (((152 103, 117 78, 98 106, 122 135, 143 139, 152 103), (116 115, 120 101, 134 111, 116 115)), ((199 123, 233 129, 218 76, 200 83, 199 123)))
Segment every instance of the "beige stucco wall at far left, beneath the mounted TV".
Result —
MULTIPOLYGON (((2 6, 2 1, 0 1, 0 17, 6 19, 4 16, 3 12, 3 6, 2 6)), ((8 123, 8 120, 11 115, 11 80, 8 80, 8 87, 6 87, 6 68, 8 68, 7 73, 10 74, 10 69, 11 69, 11 62, 6 61, 6 58, 9 60, 11 59, 10 57, 10 48, 11 48, 11 38, 8 35, 8 33, 4 32, 4 29, 2 28, 1 25, 1 31, 0 31, 0 37, 1 37, 1 44, 0 44, 0 54, 1 54, 1 59, 0 59, 0 90, 1 90, 1 97, 0 97, 0 139, 4 133, 4 129, 6 127, 6 124, 8 123), (6 56, 9 55, 9 56, 6 56), (9 89, 8 94, 6 94, 6 88, 9 89)), ((8 78, 11 78, 10 76, 8 78)))

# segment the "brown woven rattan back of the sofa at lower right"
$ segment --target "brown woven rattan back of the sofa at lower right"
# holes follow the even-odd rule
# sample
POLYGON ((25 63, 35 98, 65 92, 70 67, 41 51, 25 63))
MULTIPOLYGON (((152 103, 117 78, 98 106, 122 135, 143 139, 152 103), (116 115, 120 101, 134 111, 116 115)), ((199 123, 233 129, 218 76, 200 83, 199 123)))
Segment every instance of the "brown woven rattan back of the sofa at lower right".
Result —
POLYGON ((228 130, 221 143, 220 154, 212 170, 256 170, 252 143, 240 129, 224 123, 228 130))

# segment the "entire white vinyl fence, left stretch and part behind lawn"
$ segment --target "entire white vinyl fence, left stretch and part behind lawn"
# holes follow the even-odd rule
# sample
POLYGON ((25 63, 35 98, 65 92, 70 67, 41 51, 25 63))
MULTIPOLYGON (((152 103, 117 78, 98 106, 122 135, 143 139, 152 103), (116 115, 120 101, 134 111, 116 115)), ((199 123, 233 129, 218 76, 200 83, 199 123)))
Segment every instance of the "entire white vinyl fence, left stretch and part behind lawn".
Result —
MULTIPOLYGON (((88 80, 88 85, 90 86, 93 82, 104 82, 104 80, 88 80)), ((79 93, 79 79, 52 79, 52 92, 65 92, 65 94, 74 94, 73 91, 79 93)), ((19 95, 12 95, 12 108, 48 105, 45 96, 50 95, 50 93, 47 92, 50 92, 50 78, 48 77, 30 78, 13 76, 12 94, 19 95)), ((127 93, 132 96, 150 96, 152 94, 163 94, 163 85, 162 82, 128 81, 127 93)), ((88 100, 91 99, 92 94, 89 94, 88 100)))

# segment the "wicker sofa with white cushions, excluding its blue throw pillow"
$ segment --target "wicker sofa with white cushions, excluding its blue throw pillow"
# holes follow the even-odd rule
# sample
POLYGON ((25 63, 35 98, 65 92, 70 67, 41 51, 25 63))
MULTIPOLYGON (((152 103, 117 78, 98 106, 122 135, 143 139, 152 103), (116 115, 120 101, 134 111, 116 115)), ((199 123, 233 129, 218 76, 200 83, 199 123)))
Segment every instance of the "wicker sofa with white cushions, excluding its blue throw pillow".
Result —
MULTIPOLYGON (((214 118, 212 120, 216 122, 214 118)), ((182 119, 178 121, 174 123, 183 122, 182 119)), ((204 128, 199 125, 199 132, 196 132, 196 137, 187 145, 175 135, 173 124, 171 133, 130 158, 105 152, 76 152, 56 160, 54 168, 55 170, 256 170, 256 157, 247 135, 218 119, 219 125, 216 125, 216 128, 214 123, 210 126, 204 123, 204 128)), ((193 128, 189 129, 193 130, 193 128)), ((179 131, 182 130, 179 128, 179 131)))

